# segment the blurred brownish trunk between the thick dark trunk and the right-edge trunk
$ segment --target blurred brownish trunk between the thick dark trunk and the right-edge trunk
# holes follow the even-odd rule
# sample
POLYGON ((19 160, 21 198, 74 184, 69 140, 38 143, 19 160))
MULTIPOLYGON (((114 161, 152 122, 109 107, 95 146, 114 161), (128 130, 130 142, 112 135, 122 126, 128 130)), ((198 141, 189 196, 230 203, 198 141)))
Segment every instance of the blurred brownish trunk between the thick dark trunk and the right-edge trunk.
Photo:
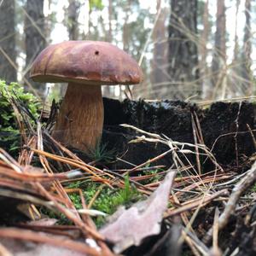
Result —
POLYGON ((217 20, 214 50, 212 53, 212 97, 224 80, 226 65, 226 16, 224 0, 217 2, 217 20))

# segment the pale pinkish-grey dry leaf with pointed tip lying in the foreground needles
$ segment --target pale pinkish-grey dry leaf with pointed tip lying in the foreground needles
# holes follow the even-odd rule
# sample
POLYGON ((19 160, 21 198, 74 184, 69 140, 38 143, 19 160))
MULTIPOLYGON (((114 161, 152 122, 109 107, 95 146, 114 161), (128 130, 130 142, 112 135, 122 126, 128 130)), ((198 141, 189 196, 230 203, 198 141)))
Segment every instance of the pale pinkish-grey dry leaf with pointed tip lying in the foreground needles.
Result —
POLYGON ((121 253, 132 245, 140 245, 148 236, 160 233, 160 223, 168 205, 168 199, 176 172, 168 172, 163 183, 148 197, 125 210, 113 214, 113 223, 100 230, 100 233, 114 243, 115 253, 121 253))

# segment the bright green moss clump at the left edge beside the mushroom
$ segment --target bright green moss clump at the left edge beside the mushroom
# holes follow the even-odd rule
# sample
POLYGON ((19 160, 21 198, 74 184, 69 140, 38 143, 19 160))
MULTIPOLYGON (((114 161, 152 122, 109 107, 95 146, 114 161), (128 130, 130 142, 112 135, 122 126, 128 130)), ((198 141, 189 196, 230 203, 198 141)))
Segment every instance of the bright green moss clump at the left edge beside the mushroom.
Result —
POLYGON ((20 146, 20 130, 12 102, 16 99, 26 106, 34 116, 38 116, 39 102, 36 96, 24 91, 17 83, 6 84, 0 80, 0 147, 16 154, 20 146))

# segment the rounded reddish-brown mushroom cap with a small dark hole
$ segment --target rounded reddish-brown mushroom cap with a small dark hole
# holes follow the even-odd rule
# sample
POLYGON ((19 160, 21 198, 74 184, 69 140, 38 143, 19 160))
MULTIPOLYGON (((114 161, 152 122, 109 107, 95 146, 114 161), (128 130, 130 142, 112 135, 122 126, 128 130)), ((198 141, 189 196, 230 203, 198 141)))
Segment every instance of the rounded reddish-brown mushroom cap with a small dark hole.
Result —
POLYGON ((141 68, 130 55, 107 42, 67 41, 49 45, 32 65, 37 82, 79 84, 139 84, 141 68))

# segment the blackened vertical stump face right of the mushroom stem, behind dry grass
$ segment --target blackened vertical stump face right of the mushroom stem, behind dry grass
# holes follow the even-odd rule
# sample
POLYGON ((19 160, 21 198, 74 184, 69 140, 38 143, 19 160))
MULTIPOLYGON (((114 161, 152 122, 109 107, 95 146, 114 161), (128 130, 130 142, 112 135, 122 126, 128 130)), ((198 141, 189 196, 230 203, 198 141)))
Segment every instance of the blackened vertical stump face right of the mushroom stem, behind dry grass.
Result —
MULTIPOLYGON (((120 124, 135 125, 144 131, 166 135, 173 141, 195 143, 192 116, 198 118, 203 142, 216 157, 218 164, 241 172, 246 160, 253 154, 255 145, 255 110, 253 103, 235 102, 213 103, 210 108, 201 109, 196 105, 180 101, 129 101, 119 102, 104 98, 105 121, 102 143, 108 148, 115 148, 124 155, 122 158, 134 165, 165 152, 168 148, 163 144, 130 143, 141 136, 120 124), (250 132, 250 130, 252 132, 250 132)), ((122 154, 120 154, 122 155, 122 154)), ((192 158, 192 162, 195 161, 192 158)), ((172 156, 167 155, 158 164, 172 165, 172 156)), ((115 167, 124 167, 124 163, 116 162, 115 167)), ((131 167, 131 166, 126 166, 131 167)), ((211 166, 204 166, 204 170, 211 166)))

